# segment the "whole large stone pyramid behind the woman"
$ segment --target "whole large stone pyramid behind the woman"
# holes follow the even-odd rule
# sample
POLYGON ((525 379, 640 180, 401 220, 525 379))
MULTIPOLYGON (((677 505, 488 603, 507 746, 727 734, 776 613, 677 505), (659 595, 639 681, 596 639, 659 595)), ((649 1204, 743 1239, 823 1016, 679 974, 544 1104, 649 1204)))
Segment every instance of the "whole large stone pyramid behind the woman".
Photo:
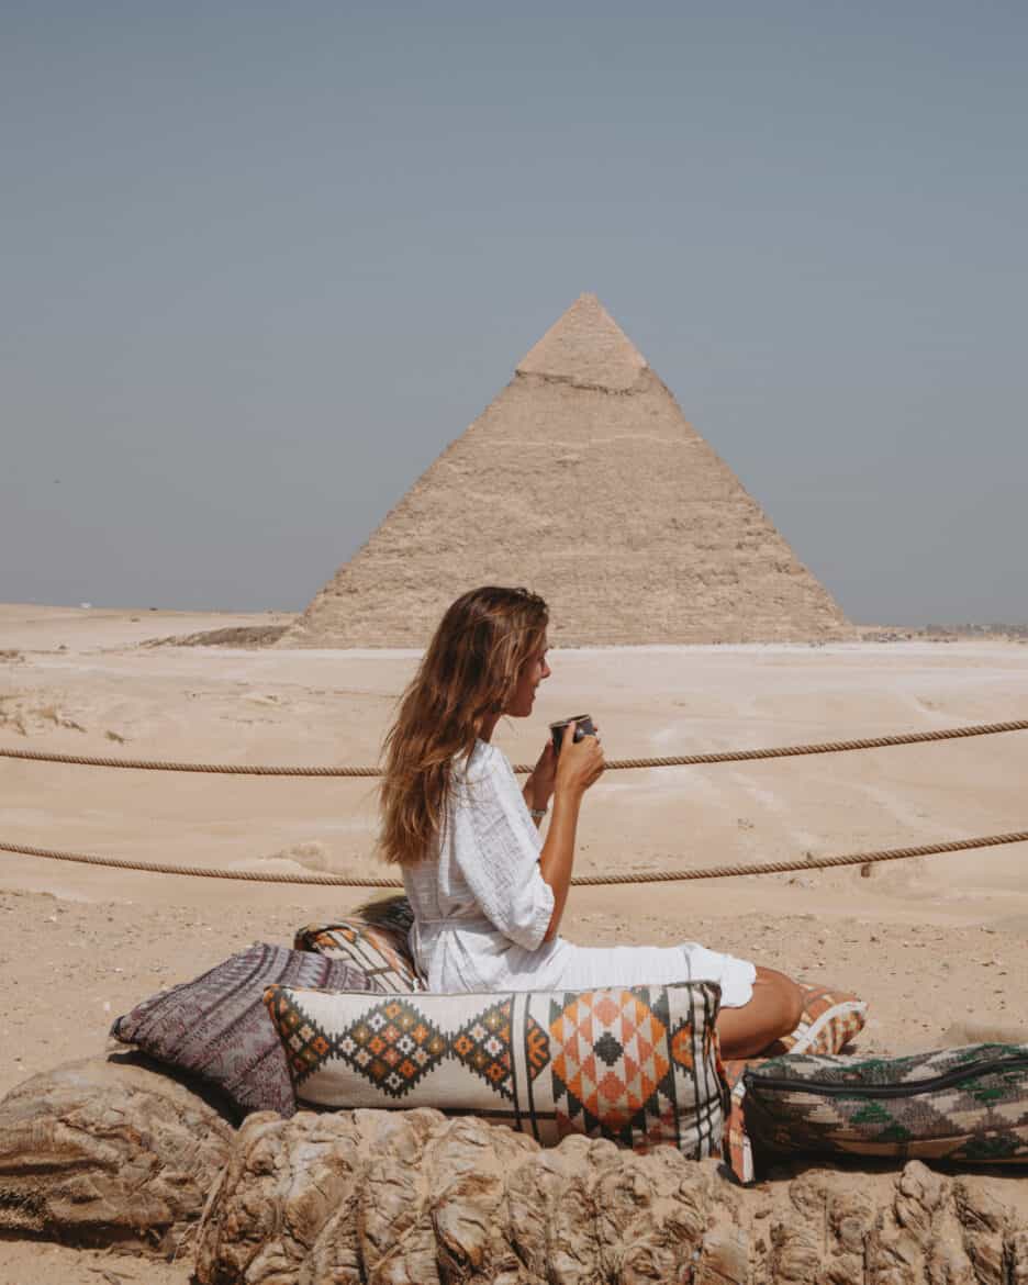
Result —
POLYGON ((283 646, 424 646, 477 585, 564 646, 852 636, 831 595, 583 294, 333 577, 283 646))

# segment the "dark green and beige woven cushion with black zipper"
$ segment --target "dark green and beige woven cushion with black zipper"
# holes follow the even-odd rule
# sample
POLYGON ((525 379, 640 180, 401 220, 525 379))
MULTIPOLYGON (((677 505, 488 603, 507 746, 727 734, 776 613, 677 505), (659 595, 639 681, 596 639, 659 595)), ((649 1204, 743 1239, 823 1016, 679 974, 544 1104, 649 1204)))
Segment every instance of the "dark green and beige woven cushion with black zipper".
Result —
POLYGON ((907 1058, 772 1058, 744 1074, 747 1127, 775 1151, 1028 1162, 1028 1045, 907 1058))

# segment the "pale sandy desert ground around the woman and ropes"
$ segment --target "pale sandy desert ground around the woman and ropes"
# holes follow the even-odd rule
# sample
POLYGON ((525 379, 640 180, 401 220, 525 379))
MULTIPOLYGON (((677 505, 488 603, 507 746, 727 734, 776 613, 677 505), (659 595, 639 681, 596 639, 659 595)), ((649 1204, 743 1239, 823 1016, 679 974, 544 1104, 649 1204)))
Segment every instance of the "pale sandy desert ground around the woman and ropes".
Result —
MULTIPOLYGON (((0 607, 0 747, 222 762, 373 763, 411 651, 145 646, 284 617, 0 607)), ((897 642, 551 654, 526 723, 590 711, 608 757, 1024 717, 1028 646, 897 642)), ((1028 734, 752 765, 610 772, 577 869, 704 866, 1028 829, 1028 734)), ((253 870, 380 874, 370 781, 194 776, 0 758, 0 840, 253 870)), ((698 939, 870 1001, 861 1050, 1028 1038, 1028 844, 860 871, 578 889, 582 943, 698 939)), ((103 1050, 113 1016, 254 939, 364 896, 0 855, 0 1094, 103 1050)), ((0 1243, 0 1285, 188 1280, 181 1263, 0 1243)))

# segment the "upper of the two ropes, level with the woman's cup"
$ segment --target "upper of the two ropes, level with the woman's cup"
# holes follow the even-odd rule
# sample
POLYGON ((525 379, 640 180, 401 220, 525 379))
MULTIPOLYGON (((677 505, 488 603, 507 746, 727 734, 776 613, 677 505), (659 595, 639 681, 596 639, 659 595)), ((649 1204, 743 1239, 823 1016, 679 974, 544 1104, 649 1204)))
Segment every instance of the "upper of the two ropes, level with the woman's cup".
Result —
MULTIPOLYGON (((829 740, 812 745, 777 745, 768 749, 730 749, 711 754, 673 754, 663 758, 613 758, 607 770, 645 767, 691 767, 702 763, 745 763, 762 758, 790 758, 798 754, 842 754, 856 749, 887 749, 892 745, 917 745, 933 740, 960 740, 965 736, 996 736, 1007 731, 1028 731, 1028 718, 1014 722, 977 723, 938 731, 908 731, 896 736, 864 736, 857 740, 829 740)), ((382 776, 380 767, 283 767, 260 763, 181 763, 161 758, 107 758, 90 754, 59 754, 45 749, 0 747, 0 758, 32 763, 69 763, 76 767, 128 767, 150 772, 215 772, 226 776, 382 776)), ((531 763, 515 763, 514 771, 527 776, 531 763)))

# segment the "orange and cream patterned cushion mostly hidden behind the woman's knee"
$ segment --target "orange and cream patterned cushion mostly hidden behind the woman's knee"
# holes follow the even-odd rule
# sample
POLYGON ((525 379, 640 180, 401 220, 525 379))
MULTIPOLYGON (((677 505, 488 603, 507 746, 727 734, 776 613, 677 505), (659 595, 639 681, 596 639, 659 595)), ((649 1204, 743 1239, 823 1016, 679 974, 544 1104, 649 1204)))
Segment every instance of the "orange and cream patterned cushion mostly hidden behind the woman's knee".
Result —
POLYGON ((743 1106, 743 1072, 785 1052, 842 1052, 864 1031, 867 1005, 856 995, 815 982, 801 982, 799 989, 803 992, 803 1013, 792 1034, 775 1041, 762 1058, 732 1058, 725 1063, 725 1076, 731 1090, 731 1106, 725 1124, 725 1155, 740 1182, 752 1182, 754 1178, 753 1148, 743 1106))

